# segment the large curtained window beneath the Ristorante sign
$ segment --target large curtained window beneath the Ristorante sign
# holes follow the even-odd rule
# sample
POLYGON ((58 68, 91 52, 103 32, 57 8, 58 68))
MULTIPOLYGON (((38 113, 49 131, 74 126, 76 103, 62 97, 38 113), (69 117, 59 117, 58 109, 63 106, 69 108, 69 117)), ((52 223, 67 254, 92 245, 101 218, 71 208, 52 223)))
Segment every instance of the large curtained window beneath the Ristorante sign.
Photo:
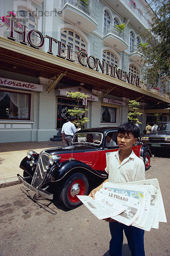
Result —
POLYGON ((0 119, 30 120, 31 94, 0 91, 0 119))

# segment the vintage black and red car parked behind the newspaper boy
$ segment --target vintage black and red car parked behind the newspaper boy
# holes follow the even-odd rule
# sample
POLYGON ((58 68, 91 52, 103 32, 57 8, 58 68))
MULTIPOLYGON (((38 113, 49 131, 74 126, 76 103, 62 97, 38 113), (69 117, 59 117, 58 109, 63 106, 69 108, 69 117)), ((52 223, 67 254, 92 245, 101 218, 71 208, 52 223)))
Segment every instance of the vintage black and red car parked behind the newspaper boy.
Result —
MULTIPOLYGON (((21 163, 23 177, 20 182, 28 189, 48 199, 53 199, 50 186, 55 187, 58 198, 66 207, 73 209, 81 204, 77 195, 88 195, 89 185, 97 177, 107 178, 105 172, 107 153, 119 150, 118 128, 89 128, 77 131, 73 143, 67 147, 43 150, 40 154, 29 150, 21 163), (114 146, 106 146, 107 134, 112 135, 114 146), (90 136, 89 136, 90 135, 90 136), (52 185, 51 185, 52 184, 52 185)), ((133 151, 142 157, 145 169, 149 169, 151 152, 140 138, 133 151)))

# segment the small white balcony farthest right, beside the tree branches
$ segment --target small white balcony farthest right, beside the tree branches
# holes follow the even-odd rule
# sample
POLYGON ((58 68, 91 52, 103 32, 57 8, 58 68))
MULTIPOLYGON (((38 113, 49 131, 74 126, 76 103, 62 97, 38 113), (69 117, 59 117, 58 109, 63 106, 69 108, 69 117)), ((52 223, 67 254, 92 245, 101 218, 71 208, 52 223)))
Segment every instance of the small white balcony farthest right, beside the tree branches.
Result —
POLYGON ((143 65, 145 58, 144 56, 140 53, 140 45, 135 44, 130 46, 130 55, 129 58, 132 61, 138 62, 139 65, 143 65))

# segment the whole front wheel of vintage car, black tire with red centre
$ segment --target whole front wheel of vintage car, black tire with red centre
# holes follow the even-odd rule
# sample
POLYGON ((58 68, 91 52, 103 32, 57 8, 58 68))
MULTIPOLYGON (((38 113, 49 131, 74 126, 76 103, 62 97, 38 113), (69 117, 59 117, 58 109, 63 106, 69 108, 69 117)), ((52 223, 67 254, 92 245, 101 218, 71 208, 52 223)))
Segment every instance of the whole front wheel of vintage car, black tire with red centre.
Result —
POLYGON ((59 189, 59 199, 68 209, 74 209, 82 204, 77 195, 88 195, 88 179, 80 172, 64 180, 59 189))

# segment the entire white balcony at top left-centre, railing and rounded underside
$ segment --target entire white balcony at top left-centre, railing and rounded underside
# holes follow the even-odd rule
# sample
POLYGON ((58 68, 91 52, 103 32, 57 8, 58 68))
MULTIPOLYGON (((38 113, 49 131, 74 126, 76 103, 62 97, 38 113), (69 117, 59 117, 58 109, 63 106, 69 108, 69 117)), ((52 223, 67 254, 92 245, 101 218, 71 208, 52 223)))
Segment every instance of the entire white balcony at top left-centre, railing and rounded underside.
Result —
POLYGON ((62 17, 65 20, 78 24, 87 32, 92 32, 97 28, 96 12, 81 0, 62 0, 62 17))

